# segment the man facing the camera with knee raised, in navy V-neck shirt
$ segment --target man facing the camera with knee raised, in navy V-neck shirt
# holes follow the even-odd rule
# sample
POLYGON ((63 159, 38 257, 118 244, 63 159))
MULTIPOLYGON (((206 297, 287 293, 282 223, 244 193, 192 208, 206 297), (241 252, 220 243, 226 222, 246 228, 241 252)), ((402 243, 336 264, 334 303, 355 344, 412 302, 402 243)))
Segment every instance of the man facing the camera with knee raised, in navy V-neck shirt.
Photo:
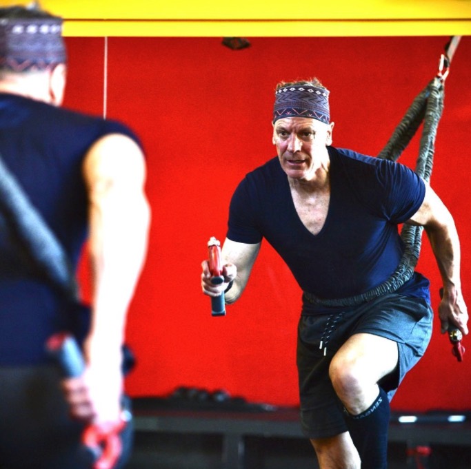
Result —
POLYGON ((275 93, 277 158, 245 176, 230 203, 223 244, 225 282, 210 296, 236 301, 263 238, 303 290, 297 366, 301 424, 321 469, 387 466, 389 402, 425 352, 432 332, 429 282, 414 273, 388 293, 404 245, 397 226, 420 225, 443 279, 442 332, 467 334, 460 248, 450 212, 413 171, 332 147, 329 91, 314 79, 281 83, 275 93))

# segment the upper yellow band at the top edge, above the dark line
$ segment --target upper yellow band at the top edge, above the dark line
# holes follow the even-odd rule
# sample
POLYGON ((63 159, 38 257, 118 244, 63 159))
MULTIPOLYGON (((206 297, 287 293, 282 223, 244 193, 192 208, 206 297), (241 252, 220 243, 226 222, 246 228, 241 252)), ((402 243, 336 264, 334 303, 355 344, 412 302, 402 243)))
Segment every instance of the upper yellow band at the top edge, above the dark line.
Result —
MULTIPOLYGON (((18 3, 2 0, 1 3, 18 3)), ((22 1, 27 4, 29 1, 22 1)), ((469 0, 40 0, 68 19, 441 19, 471 18, 469 0)))

